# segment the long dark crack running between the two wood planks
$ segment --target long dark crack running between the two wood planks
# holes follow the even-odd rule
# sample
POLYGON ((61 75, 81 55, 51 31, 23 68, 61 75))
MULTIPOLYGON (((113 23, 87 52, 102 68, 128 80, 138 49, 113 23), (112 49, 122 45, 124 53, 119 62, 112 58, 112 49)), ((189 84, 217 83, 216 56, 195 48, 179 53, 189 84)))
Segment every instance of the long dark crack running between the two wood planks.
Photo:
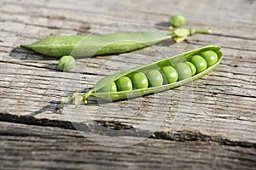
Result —
MULTIPOLYGON (((37 119, 33 116, 15 116, 10 115, 8 113, 0 113, 1 122, 14 122, 14 123, 22 123, 26 125, 36 125, 36 126, 42 126, 42 127, 60 127, 64 129, 71 129, 76 130, 76 126, 83 126, 84 131, 90 131, 90 127, 88 125, 84 125, 83 123, 75 123, 75 122, 67 122, 67 121, 56 121, 56 120, 49 120, 49 119, 37 119), (73 125, 75 127, 73 127, 73 125)), ((119 135, 125 135, 125 136, 141 136, 144 133, 149 133, 145 130, 137 129, 135 127, 132 127, 131 125, 125 125, 122 122, 114 122, 114 121, 94 121, 94 124, 92 125, 94 127, 100 128, 102 130, 103 128, 114 130, 114 134, 112 133, 105 133, 105 135, 108 136, 116 136, 118 133, 119 135), (126 130, 126 132, 125 132, 126 130), (128 131, 127 131, 128 130, 128 131), (125 133, 124 133, 125 132, 125 133)), ((97 129, 97 128, 95 128, 97 129)), ((0 135, 15 135, 14 133, 8 133, 8 132, 2 132, 0 135)), ((20 135, 20 134, 19 134, 20 135)), ((256 144, 251 142, 245 142, 245 141, 232 141, 230 139, 225 139, 222 136, 208 136, 206 134, 203 134, 198 131, 178 131, 176 133, 169 133, 169 132, 154 132, 149 137, 151 139, 165 139, 165 140, 172 140, 177 142, 188 142, 188 141, 203 141, 207 143, 218 143, 218 144, 224 144, 224 145, 231 145, 231 146, 239 146, 239 147, 245 147, 245 148, 256 148, 256 144)))

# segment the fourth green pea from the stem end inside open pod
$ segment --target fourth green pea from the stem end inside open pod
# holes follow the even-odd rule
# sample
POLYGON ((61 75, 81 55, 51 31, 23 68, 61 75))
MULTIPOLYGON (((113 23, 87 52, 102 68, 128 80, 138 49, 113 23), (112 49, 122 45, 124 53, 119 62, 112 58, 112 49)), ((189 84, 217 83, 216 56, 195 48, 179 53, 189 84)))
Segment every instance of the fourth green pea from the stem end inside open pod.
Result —
POLYGON ((160 86, 164 82, 164 79, 160 71, 157 71, 157 70, 148 71, 146 76, 148 77, 149 87, 160 86))

